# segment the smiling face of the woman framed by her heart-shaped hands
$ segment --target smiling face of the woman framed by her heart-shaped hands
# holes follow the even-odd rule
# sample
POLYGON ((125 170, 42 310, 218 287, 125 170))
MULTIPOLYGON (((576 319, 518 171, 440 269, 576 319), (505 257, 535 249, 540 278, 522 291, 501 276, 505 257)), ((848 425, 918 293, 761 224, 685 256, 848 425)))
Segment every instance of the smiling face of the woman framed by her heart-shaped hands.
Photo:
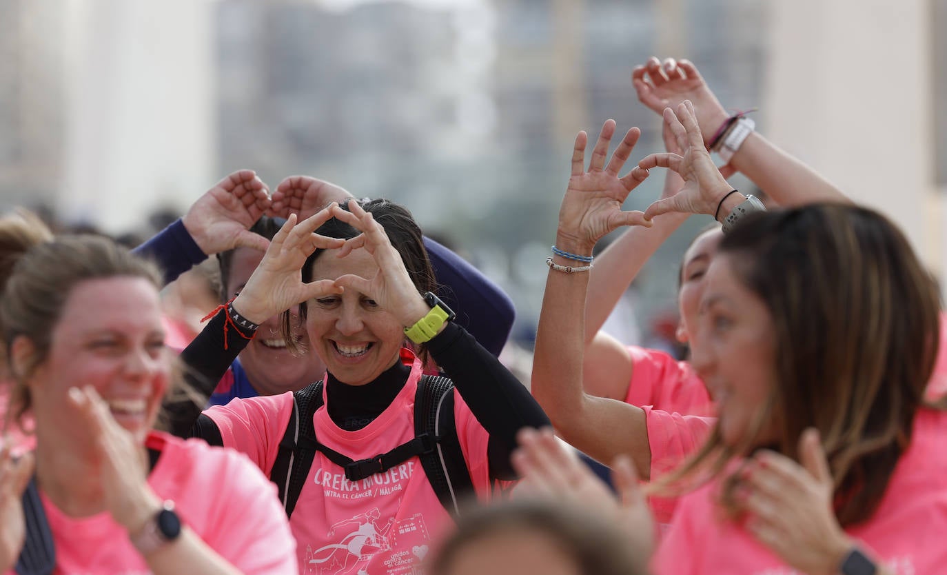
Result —
MULTIPOLYGON (((345 258, 326 250, 313 263, 313 280, 354 274, 372 279, 378 265, 364 249, 345 258)), ((404 326, 365 294, 348 288, 342 295, 311 299, 306 330, 319 357, 339 381, 364 386, 399 360, 404 326)))

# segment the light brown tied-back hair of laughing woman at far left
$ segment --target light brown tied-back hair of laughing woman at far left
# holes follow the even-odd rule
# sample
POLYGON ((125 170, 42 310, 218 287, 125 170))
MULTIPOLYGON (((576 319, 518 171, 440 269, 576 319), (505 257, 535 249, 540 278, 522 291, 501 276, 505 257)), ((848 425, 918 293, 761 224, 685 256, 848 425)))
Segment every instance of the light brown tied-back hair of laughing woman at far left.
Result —
POLYGON ((7 366, 13 376, 11 415, 17 419, 30 405, 25 379, 49 353, 52 332, 72 289, 88 279, 148 279, 158 289, 161 275, 149 261, 98 236, 63 236, 55 240, 29 216, 0 220, 0 333, 3 350, 25 336, 35 350, 26 365, 7 366))

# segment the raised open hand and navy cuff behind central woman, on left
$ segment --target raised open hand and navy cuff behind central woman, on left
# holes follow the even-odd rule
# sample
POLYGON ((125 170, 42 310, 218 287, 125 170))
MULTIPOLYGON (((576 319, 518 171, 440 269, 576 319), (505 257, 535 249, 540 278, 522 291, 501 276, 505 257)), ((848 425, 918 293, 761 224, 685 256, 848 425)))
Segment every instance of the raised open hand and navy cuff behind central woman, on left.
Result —
POLYGON ((269 207, 269 191, 256 172, 235 171, 134 253, 157 261, 170 283, 212 254, 239 246, 265 250, 266 239, 249 229, 269 207))

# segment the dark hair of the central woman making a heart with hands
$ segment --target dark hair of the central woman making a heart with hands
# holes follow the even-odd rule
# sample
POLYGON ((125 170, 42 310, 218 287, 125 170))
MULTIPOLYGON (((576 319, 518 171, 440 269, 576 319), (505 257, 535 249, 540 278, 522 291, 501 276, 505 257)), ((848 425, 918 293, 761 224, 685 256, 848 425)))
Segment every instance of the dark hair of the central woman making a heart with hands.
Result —
MULTIPOLYGON (((372 215, 376 222, 384 227, 384 233, 388 236, 391 245, 394 246, 402 256, 404 267, 418 288, 420 294, 427 292, 436 292, 438 283, 434 277, 434 268, 431 267, 431 261, 427 255, 427 249, 424 248, 423 238, 420 227, 415 223, 411 212, 407 208, 399 206, 388 200, 366 200, 359 201, 359 206, 372 215)), ((348 211, 348 204, 341 207, 348 211)), ((315 233, 328 238, 341 238, 348 240, 361 234, 362 232, 351 225, 332 218, 323 225, 320 225, 315 233)), ((319 259, 319 256, 325 252, 325 249, 317 248, 313 255, 302 266, 302 280, 313 280, 313 266, 319 259)), ((308 315, 307 302, 299 304, 299 321, 305 321, 308 315)), ((299 348, 292 335, 291 315, 284 312, 281 321, 281 332, 286 345, 290 350, 299 352, 299 348)), ((421 361, 427 361, 427 351, 424 346, 418 348, 418 355, 421 361)))

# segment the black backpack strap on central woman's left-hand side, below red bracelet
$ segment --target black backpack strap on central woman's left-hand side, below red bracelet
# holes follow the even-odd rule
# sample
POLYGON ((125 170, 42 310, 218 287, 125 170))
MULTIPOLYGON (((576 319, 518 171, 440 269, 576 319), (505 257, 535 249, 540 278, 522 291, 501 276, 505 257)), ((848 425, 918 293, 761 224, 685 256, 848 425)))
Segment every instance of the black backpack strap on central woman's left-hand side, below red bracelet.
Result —
POLYGON ((293 413, 270 470, 270 480, 277 484, 279 501, 286 509, 287 517, 293 514, 313 465, 316 443, 313 415, 322 404, 321 380, 293 393, 293 413))

